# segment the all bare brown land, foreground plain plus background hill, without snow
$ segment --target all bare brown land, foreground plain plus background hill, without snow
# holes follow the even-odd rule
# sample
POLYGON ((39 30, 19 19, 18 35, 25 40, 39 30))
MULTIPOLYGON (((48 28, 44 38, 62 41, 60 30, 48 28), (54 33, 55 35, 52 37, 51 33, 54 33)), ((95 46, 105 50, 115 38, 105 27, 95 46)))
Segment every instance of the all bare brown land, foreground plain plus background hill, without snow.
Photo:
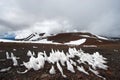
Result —
MULTIPOLYGON (((99 42, 94 35, 91 35, 94 38, 86 38, 85 36, 80 37, 80 35, 83 34, 67 33, 58 34, 47 38, 48 40, 60 42, 61 44, 0 42, 0 80, 120 80, 120 41, 99 39, 101 40, 99 42), (82 38, 86 38, 87 40, 81 45, 64 44, 65 42, 82 38), (89 53, 91 55, 95 52, 99 52, 100 55, 106 58, 105 65, 107 66, 107 69, 104 70, 97 68, 96 71, 99 73, 98 76, 94 73, 94 71, 92 72, 89 69, 88 63, 86 65, 83 63, 78 65, 83 66, 89 75, 82 71, 78 71, 76 66, 74 66, 74 73, 67 70, 66 66, 62 66, 63 72, 67 76, 63 77, 60 70, 56 66, 57 63, 52 64, 46 61, 44 68, 39 70, 34 70, 34 68, 32 68, 27 72, 25 72, 27 68, 25 66, 21 66, 23 61, 29 61, 30 57, 26 56, 29 51, 34 53, 34 56, 37 57, 39 52, 46 52, 47 56, 49 56, 52 50, 59 50, 67 53, 69 48, 75 48, 77 50, 81 49, 84 53, 89 53), (6 52, 8 54, 14 54, 13 56, 16 57, 16 60, 18 61, 17 65, 13 64, 13 59, 6 58, 6 52), (56 70, 55 74, 49 74, 51 65, 53 65, 56 70)), ((90 36, 90 34, 84 35, 90 36)), ((73 60, 77 58, 78 57, 75 57, 73 60)))

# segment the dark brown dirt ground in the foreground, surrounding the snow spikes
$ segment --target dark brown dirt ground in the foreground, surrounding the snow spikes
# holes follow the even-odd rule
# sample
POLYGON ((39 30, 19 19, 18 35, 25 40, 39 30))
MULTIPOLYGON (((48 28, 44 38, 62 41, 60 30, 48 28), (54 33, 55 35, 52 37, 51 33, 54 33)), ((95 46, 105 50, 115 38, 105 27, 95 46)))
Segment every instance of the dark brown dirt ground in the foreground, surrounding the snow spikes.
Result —
MULTIPOLYGON (((11 60, 6 59, 6 52, 14 53, 15 56, 19 56, 21 60, 19 63, 22 63, 22 60, 28 61, 28 57, 26 54, 28 50, 35 52, 46 51, 47 55, 51 49, 54 50, 63 50, 67 52, 69 47, 75 47, 77 49, 82 49, 87 53, 99 52, 105 58, 107 58, 107 66, 108 70, 100 70, 98 69, 101 76, 105 77, 106 80, 120 80, 120 44, 112 43, 112 44, 101 44, 97 45, 97 47, 83 47, 80 46, 67 46, 67 45, 52 45, 52 44, 35 44, 35 43, 0 43, 0 69, 7 68, 11 66, 12 68, 9 71, 0 72, 0 80, 103 80, 100 77, 97 77, 95 74, 90 73, 90 75, 86 75, 82 72, 76 70, 75 73, 71 73, 67 71, 64 67, 64 73, 67 75, 67 78, 63 78, 57 70, 57 73, 54 75, 50 75, 49 69, 50 64, 47 63, 44 69, 40 69, 38 71, 30 70, 25 74, 18 74, 17 70, 24 71, 25 68, 18 66, 13 66, 11 60)), ((87 66, 84 66, 86 70, 87 66)))

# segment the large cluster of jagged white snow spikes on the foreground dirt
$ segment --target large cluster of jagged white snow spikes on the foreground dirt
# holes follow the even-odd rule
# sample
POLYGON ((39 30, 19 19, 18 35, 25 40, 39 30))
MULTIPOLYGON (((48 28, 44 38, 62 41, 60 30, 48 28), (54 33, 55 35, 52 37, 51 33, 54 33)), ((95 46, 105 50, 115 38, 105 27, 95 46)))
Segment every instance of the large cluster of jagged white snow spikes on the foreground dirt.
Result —
MULTIPOLYGON (((106 58, 104 58, 98 52, 89 54, 89 53, 84 53, 81 49, 76 50, 75 48, 69 48, 67 53, 64 53, 63 51, 60 52, 59 50, 57 51, 51 50, 49 56, 47 56, 45 52, 44 53, 39 52, 37 54, 37 57, 34 57, 31 51, 28 51, 27 56, 30 56, 30 59, 28 62, 23 61, 23 66, 25 66, 28 70, 42 69, 44 68, 47 61, 48 63, 54 64, 54 65, 55 63, 57 63, 56 66, 63 77, 67 77, 63 72, 64 71, 62 69, 63 66, 67 67, 67 70, 71 71, 72 73, 75 73, 74 66, 76 66, 77 70, 89 75, 89 72, 87 72, 83 66, 81 67, 78 66, 81 64, 86 65, 86 62, 87 62, 88 63, 87 65, 92 67, 92 68, 89 68, 89 70, 94 74, 96 74, 98 77, 100 77, 100 75, 99 75, 99 72, 97 71, 97 68, 106 70, 108 67, 107 65, 105 65, 106 58), (75 58, 75 56, 78 57, 78 59, 73 61, 72 58, 75 58)), ((49 70, 49 73, 50 74, 56 73, 54 66, 51 67, 51 69, 49 70)))

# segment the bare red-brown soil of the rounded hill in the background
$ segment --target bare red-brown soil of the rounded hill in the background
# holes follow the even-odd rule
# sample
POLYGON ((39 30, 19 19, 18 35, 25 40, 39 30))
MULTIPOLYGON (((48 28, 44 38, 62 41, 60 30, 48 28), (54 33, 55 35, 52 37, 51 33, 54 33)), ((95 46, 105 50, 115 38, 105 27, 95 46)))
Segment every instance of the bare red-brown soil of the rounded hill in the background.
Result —
POLYGON ((117 43, 114 41, 100 39, 91 33, 82 33, 82 32, 60 33, 54 36, 47 37, 49 41, 59 42, 59 43, 66 43, 66 42, 83 39, 83 38, 87 39, 86 42, 84 43, 85 45, 100 45, 100 44, 117 43), (89 37, 86 37, 86 36, 89 36, 89 37))

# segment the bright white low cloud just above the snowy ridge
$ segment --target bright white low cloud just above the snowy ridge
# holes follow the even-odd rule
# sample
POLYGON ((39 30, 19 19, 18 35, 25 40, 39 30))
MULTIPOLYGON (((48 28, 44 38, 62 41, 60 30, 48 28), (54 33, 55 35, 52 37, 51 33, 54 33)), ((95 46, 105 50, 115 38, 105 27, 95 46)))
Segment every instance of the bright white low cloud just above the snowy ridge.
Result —
POLYGON ((29 30, 31 32, 41 32, 41 33, 59 33, 59 32, 66 32, 68 30, 71 31, 72 26, 65 20, 44 20, 41 22, 36 22, 34 25, 31 25, 29 30), (33 29, 34 27, 34 29, 33 29))

